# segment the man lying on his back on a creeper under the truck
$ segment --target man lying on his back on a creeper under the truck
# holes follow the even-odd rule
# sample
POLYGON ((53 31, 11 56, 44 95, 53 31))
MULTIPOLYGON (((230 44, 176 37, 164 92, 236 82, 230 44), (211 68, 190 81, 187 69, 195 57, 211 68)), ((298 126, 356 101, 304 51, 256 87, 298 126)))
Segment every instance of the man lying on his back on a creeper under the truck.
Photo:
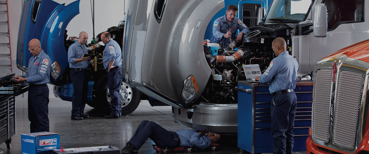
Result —
POLYGON ((192 129, 179 130, 176 132, 165 130, 155 122, 144 120, 136 129, 121 150, 122 154, 137 153, 137 150, 150 138, 158 147, 177 148, 177 147, 198 147, 205 149, 212 143, 217 143, 220 139, 219 134, 196 131, 192 129))

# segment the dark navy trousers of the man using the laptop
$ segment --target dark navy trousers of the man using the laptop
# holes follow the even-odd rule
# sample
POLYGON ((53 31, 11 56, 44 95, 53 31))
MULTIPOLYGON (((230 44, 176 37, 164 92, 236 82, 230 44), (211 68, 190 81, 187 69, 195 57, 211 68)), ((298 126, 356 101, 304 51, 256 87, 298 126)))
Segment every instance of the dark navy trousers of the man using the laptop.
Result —
POLYGON ((292 129, 296 115, 296 103, 297 98, 294 92, 275 95, 272 99, 270 110, 274 154, 293 154, 292 129))

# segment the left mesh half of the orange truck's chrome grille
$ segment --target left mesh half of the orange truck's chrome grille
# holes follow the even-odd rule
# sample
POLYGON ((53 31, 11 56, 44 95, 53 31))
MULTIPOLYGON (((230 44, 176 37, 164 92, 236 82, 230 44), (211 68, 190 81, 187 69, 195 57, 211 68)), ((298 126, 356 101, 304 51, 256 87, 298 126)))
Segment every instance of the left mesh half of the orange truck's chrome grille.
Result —
POLYGON ((332 69, 321 69, 315 74, 313 96, 312 135, 328 142, 332 87, 332 69))

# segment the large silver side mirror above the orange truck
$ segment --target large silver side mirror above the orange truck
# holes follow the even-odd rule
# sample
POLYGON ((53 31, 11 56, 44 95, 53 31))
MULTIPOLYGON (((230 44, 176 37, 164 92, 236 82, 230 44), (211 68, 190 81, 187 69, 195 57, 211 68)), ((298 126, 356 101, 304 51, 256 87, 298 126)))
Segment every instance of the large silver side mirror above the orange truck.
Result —
POLYGON ((328 29, 327 7, 325 4, 316 4, 314 8, 314 37, 326 37, 328 29))

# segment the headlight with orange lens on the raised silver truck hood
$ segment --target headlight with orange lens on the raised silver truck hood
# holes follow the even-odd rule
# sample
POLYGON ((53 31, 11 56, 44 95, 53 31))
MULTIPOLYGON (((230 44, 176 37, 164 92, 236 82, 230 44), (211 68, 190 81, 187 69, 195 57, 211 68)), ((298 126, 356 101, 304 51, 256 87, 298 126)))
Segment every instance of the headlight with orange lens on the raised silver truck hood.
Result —
POLYGON ((184 79, 182 97, 186 101, 186 103, 189 103, 191 100, 194 99, 198 90, 199 90, 199 86, 197 85, 195 77, 190 75, 186 79, 184 79))

